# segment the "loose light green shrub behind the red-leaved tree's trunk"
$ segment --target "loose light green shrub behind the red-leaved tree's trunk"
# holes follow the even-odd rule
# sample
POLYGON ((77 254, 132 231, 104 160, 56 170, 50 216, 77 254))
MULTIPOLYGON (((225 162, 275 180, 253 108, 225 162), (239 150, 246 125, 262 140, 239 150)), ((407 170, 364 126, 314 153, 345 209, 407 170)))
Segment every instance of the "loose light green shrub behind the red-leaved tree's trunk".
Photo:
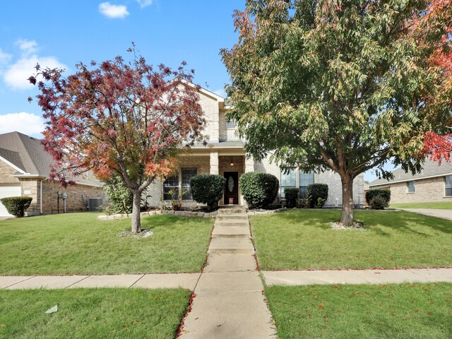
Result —
POLYGON ((103 208, 106 214, 132 213, 133 195, 118 175, 114 175, 104 186, 105 194, 110 200, 110 206, 103 208))

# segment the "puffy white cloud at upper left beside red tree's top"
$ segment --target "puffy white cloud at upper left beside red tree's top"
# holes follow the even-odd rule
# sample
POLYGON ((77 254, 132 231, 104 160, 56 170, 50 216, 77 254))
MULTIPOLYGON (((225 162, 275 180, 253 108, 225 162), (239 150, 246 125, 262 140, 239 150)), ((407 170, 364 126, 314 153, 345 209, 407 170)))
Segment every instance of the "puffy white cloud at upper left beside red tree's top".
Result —
POLYGON ((28 90, 32 88, 33 85, 30 84, 28 78, 36 72, 36 64, 40 64, 43 69, 46 67, 49 67, 49 69, 67 69, 67 66, 61 64, 55 57, 37 57, 36 55, 31 55, 29 57, 25 56, 18 59, 16 63, 9 66, 4 72, 4 81, 6 85, 17 90, 28 90))

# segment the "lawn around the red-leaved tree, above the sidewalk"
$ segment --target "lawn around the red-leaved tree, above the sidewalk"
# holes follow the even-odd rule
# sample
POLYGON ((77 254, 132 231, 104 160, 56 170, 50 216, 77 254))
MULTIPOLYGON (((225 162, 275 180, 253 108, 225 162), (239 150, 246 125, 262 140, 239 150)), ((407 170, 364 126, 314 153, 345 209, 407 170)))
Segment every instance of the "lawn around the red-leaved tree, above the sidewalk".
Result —
POLYGON ((119 237, 130 220, 95 213, 0 221, 0 275, 198 272, 213 220, 156 215, 141 220, 148 238, 119 237))

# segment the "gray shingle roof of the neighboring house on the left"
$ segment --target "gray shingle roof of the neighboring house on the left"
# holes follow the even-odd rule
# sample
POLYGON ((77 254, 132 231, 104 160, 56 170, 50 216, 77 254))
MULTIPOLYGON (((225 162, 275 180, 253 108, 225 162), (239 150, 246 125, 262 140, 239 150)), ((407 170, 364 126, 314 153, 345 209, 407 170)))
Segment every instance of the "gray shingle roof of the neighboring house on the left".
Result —
MULTIPOLYGON (((50 166, 54 162, 52 155, 44 150, 39 139, 19 132, 0 134, 0 157, 25 173, 46 178, 49 177, 50 166)), ((83 177, 76 177, 74 181, 81 184, 100 185, 100 182, 95 179, 83 177)))

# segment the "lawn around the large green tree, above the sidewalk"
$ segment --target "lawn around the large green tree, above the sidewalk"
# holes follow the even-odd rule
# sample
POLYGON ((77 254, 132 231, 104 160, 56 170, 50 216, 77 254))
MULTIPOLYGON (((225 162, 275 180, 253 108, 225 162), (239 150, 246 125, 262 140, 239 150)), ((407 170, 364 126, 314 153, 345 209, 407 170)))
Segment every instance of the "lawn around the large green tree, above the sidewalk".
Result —
POLYGON ((355 211, 364 230, 332 230, 340 210, 250 218, 262 270, 452 266, 452 222, 405 211, 355 211))

